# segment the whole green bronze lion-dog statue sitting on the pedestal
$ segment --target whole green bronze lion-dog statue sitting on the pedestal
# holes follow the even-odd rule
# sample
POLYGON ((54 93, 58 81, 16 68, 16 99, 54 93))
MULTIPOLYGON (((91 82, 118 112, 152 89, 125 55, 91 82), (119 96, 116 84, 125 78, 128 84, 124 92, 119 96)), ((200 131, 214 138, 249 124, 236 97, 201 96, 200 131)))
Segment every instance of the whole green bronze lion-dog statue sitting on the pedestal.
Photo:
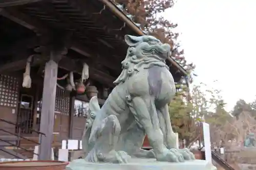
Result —
POLYGON ((170 46, 153 36, 125 36, 129 45, 116 87, 100 109, 90 100, 90 115, 83 134, 83 150, 90 162, 127 163, 131 156, 158 161, 195 159, 188 149, 176 148, 168 103, 176 93, 165 60, 170 46), (153 148, 141 150, 145 135, 153 148))

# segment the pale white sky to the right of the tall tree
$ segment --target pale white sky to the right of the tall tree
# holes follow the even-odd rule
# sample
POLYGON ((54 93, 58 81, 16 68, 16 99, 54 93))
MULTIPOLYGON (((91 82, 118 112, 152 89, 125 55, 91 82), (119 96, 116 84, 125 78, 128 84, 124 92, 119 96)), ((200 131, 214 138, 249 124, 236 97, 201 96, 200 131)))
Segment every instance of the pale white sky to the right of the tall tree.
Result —
POLYGON ((177 0, 163 14, 178 23, 185 57, 196 64, 194 84, 222 90, 228 111, 256 99, 255 7, 255 0, 177 0))

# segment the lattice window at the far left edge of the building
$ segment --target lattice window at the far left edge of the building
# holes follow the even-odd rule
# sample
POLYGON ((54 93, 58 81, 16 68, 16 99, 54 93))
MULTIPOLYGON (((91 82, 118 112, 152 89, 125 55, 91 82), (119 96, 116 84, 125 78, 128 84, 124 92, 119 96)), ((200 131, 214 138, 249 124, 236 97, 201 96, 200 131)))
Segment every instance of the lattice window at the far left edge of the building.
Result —
POLYGON ((12 76, 0 75, 0 106, 16 107, 19 81, 12 76))

